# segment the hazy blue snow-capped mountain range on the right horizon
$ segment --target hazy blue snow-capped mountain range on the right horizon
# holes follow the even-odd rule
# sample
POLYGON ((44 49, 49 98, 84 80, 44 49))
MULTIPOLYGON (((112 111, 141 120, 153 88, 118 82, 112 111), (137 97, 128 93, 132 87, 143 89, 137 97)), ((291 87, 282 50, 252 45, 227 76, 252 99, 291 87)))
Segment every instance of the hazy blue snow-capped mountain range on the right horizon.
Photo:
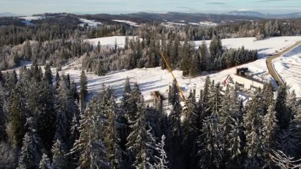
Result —
POLYGON ((225 14, 232 15, 232 16, 250 16, 250 17, 271 18, 271 19, 301 18, 301 12, 288 13, 288 14, 263 14, 255 11, 231 11, 225 14))

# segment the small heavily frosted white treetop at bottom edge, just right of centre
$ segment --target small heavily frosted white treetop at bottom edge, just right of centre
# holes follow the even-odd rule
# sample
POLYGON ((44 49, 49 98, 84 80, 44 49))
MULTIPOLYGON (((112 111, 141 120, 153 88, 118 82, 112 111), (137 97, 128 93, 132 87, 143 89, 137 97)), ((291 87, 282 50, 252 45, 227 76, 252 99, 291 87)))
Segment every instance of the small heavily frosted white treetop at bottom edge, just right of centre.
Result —
POLYGON ((164 150, 165 146, 165 135, 162 135, 161 137, 161 142, 156 144, 156 150, 158 151, 159 157, 155 156, 156 159, 156 164, 155 164, 155 169, 168 169, 166 164, 168 163, 167 161, 167 154, 164 150))

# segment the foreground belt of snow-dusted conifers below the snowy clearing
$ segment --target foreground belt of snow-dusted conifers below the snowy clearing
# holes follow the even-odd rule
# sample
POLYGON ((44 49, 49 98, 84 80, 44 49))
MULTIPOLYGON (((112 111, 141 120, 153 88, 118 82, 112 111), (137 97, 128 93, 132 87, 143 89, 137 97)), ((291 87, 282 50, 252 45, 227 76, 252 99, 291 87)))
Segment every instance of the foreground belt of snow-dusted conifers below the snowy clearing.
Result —
POLYGON ((138 84, 123 95, 102 86, 80 111, 69 75, 52 77, 33 64, 0 75, 0 168, 5 169, 278 169, 301 158, 301 107, 294 92, 265 84, 246 105, 238 86, 222 90, 206 78, 200 99, 182 106, 175 81, 169 113, 144 104, 138 84), (283 153, 283 154, 282 154, 283 153), (286 156, 284 156, 286 155, 286 156))

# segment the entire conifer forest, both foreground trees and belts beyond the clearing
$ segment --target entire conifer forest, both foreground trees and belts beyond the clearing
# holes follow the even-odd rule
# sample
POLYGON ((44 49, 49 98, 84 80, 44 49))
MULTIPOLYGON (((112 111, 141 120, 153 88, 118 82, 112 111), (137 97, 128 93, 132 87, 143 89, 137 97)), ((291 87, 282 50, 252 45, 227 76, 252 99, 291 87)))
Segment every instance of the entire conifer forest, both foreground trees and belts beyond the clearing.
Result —
POLYGON ((161 52, 185 77, 221 71, 258 59, 256 50, 224 48, 222 39, 298 36, 295 21, 217 27, 107 21, 91 27, 79 26, 73 14, 45 16, 34 26, 0 17, 0 169, 301 168, 301 100, 287 85, 274 97, 273 84, 265 84, 244 103, 240 86, 224 89, 206 77, 198 100, 194 92, 183 99, 174 81, 171 110, 159 113, 127 77, 121 99, 104 85, 88 98, 86 76, 166 69, 161 52), (126 36, 124 46, 84 41, 108 36, 126 36), (58 73, 74 60, 81 61, 79 86, 58 73))

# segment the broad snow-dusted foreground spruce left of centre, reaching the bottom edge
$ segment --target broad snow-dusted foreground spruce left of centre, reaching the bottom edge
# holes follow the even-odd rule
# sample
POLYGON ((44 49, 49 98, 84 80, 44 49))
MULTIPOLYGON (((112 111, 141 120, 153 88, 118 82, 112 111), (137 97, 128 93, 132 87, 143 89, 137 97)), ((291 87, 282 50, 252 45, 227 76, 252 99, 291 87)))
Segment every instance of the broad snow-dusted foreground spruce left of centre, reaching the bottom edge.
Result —
POLYGON ((101 115, 100 101, 94 97, 80 120, 80 137, 74 143, 69 154, 79 153, 79 167, 98 169, 107 167, 106 150, 103 144, 104 119, 101 115))

